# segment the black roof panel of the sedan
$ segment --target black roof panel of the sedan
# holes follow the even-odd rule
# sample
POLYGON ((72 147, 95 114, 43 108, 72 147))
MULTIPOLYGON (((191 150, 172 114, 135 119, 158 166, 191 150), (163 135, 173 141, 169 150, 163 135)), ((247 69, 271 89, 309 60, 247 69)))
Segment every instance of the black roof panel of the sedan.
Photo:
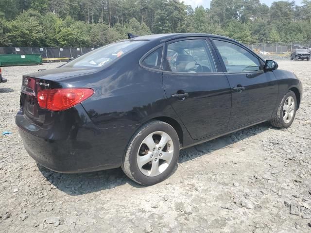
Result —
MULTIPOLYGON (((214 34, 207 34, 207 33, 167 33, 167 34, 153 34, 153 35, 142 35, 142 36, 137 36, 131 39, 127 40, 148 40, 148 41, 168 41, 168 40, 173 40, 173 39, 178 39, 178 38, 183 38, 183 37, 195 37, 195 36, 202 36, 202 37, 217 37, 217 38, 224 38, 228 39, 231 41, 235 41, 231 38, 221 36, 221 35, 214 35, 214 34)), ((237 41, 236 41, 237 42, 237 41)))

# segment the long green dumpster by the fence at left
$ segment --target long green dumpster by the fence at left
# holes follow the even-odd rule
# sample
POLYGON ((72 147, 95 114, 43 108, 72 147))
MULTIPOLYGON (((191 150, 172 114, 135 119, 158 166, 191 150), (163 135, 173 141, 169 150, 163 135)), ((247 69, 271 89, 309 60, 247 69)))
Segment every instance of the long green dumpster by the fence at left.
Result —
POLYGON ((42 64, 40 54, 0 54, 0 66, 22 66, 42 64))

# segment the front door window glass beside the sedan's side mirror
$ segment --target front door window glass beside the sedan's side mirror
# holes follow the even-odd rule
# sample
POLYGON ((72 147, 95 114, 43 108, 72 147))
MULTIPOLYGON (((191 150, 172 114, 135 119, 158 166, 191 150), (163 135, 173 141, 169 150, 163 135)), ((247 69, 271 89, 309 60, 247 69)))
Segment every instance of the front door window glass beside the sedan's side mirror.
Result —
POLYGON ((257 57, 242 47, 221 41, 214 40, 214 43, 225 63, 227 72, 248 72, 260 70, 260 63, 257 57))

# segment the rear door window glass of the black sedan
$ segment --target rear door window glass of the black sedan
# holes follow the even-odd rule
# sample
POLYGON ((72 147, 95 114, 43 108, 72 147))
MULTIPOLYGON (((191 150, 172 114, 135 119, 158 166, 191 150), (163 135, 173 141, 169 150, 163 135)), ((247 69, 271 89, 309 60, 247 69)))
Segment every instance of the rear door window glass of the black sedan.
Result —
POLYGON ((166 70, 186 73, 217 72, 206 40, 183 40, 168 45, 166 70))

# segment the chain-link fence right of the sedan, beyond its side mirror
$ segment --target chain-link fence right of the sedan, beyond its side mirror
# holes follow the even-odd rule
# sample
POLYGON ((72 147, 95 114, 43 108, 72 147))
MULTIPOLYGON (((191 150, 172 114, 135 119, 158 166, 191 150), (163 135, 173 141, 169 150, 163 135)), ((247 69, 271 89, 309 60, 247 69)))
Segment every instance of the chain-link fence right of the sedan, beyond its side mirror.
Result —
POLYGON ((287 56, 294 49, 305 49, 311 52, 311 41, 259 43, 247 44, 246 46, 260 55, 287 56))

